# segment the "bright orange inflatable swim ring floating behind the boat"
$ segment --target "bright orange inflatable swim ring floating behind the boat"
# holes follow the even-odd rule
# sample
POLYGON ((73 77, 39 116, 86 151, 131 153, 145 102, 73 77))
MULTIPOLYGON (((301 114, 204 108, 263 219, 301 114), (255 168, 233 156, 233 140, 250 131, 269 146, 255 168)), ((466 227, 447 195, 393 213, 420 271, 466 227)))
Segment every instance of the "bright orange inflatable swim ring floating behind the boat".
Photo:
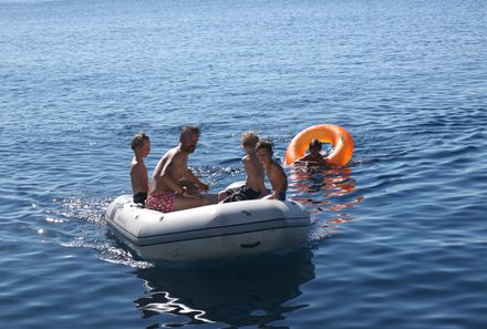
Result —
POLYGON ((333 152, 325 157, 329 165, 344 166, 349 163, 353 153, 352 135, 339 125, 319 124, 303 130, 292 138, 286 151, 286 165, 291 165, 303 156, 310 142, 314 138, 333 145, 333 152))

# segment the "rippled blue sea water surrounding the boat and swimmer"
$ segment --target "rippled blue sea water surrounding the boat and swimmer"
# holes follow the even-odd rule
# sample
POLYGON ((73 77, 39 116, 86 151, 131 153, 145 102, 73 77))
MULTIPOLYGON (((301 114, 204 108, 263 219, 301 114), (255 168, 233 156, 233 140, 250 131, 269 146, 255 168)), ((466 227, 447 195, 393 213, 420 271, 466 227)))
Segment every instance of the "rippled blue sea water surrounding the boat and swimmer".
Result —
POLYGON ((487 328, 487 2, 0 0, 2 328, 487 328), (283 160, 321 123, 340 169, 287 169, 317 225, 301 248, 134 259, 107 232, 199 124, 190 166, 244 178, 239 136, 283 160))

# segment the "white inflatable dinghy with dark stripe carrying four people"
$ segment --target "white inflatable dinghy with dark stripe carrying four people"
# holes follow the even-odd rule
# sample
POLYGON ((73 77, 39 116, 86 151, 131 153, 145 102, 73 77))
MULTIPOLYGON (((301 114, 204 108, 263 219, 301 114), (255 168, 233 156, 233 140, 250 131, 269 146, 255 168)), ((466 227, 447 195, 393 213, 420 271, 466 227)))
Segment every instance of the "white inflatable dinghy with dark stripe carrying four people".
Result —
POLYGON ((106 210, 112 233, 142 259, 204 260, 288 248, 308 239, 310 213, 286 201, 245 201, 159 213, 114 199, 106 210))

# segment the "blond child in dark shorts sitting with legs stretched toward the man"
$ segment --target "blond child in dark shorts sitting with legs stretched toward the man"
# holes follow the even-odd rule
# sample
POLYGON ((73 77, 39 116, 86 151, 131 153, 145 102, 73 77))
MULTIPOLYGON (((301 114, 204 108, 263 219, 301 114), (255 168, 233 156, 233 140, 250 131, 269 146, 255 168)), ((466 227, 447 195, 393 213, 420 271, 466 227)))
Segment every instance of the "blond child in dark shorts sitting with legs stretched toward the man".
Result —
POLYGON ((263 167, 257 158, 256 145, 259 135, 255 132, 245 132, 241 137, 241 147, 246 155, 241 158, 247 173, 246 184, 237 188, 228 188, 218 193, 218 202, 231 203, 246 199, 260 198, 268 194, 263 184, 263 167))

